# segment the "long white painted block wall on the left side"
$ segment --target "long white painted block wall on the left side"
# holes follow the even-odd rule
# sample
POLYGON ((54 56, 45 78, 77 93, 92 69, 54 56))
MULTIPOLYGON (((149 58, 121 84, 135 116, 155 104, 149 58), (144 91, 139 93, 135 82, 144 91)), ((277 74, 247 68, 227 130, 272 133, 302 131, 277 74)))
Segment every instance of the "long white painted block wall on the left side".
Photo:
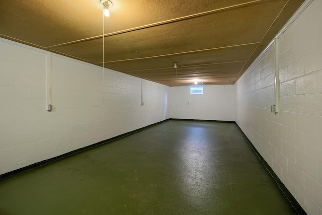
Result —
POLYGON ((169 118, 169 87, 0 39, 0 174, 169 118))

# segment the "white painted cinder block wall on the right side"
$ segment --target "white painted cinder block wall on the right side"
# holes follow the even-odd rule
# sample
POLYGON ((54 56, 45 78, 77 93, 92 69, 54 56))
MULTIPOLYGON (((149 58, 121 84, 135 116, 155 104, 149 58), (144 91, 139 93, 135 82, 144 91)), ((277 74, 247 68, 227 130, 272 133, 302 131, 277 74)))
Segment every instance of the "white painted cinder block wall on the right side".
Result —
POLYGON ((274 104, 274 50, 237 81, 236 122, 308 214, 322 214, 322 1, 281 35, 280 112, 274 104))

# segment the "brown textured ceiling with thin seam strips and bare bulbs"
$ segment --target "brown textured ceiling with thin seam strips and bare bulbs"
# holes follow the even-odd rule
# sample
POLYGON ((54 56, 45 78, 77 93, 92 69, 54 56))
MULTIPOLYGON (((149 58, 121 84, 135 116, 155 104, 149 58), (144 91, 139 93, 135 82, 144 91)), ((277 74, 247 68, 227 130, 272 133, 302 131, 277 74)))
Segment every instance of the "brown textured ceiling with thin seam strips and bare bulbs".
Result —
POLYGON ((304 1, 112 2, 103 17, 99 0, 0 0, 0 37, 102 66, 104 35, 107 68, 168 86, 234 84, 304 1))

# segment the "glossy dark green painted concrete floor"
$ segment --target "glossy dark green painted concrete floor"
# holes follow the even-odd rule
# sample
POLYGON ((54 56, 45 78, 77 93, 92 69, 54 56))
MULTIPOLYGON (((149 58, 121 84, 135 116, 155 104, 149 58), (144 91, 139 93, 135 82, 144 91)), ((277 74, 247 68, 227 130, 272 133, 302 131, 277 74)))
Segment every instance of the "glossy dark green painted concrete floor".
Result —
POLYGON ((234 123, 169 120, 0 181, 0 214, 295 214, 234 123))

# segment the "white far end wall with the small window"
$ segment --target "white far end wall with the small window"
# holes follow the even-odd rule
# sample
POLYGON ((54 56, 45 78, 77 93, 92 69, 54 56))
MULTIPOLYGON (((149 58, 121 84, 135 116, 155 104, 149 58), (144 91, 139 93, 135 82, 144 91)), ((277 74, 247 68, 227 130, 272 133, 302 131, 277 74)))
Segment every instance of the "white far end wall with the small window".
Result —
POLYGON ((190 95, 190 87, 171 87, 170 117, 235 121, 234 85, 204 85, 203 88, 203 95, 190 95))

